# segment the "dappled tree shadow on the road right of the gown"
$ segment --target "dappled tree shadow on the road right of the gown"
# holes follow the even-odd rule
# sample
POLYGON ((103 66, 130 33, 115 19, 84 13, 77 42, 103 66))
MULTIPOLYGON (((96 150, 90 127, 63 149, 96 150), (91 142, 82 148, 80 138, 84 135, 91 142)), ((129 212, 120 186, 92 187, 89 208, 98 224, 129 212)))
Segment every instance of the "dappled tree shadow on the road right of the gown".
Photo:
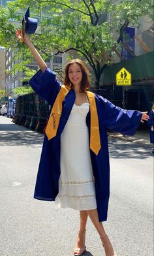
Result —
POLYGON ((146 159, 151 157, 151 146, 143 143, 125 142, 123 140, 110 138, 108 140, 110 157, 112 158, 137 158, 146 159))

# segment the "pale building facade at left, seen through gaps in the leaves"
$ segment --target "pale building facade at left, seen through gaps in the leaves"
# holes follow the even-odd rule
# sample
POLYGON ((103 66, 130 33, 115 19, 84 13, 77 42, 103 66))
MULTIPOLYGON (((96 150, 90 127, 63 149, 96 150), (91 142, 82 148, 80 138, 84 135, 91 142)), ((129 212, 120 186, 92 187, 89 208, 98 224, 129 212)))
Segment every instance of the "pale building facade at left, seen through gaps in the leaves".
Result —
MULTIPOLYGON (((10 0, 14 1, 14 0, 10 0)), ((3 5, 4 7, 7 6, 7 0, 0 0, 0 5, 3 5)), ((33 10, 32 10, 33 13, 33 10)), ((22 14, 18 12, 18 14, 22 14)), ((33 14, 32 14, 33 16, 33 14)), ((44 16, 44 13, 41 13, 40 16, 34 16, 34 18, 37 18, 38 20, 38 27, 37 27, 37 34, 41 33, 40 24, 43 19, 46 19, 46 16, 44 16)), ((18 22, 14 19, 10 19, 10 22, 16 27, 21 26, 21 22, 18 22)), ((4 49, 4 48, 3 48, 4 49)), ((8 48, 6 50, 1 50, 0 48, 0 88, 3 87, 5 89, 5 92, 8 96, 12 96, 12 89, 16 87, 25 86, 28 83, 23 81, 23 78, 25 76, 24 72, 19 72, 14 69, 14 64, 20 63, 22 59, 15 59, 16 52, 14 52, 11 48, 8 48), (3 64, 2 64, 3 63, 3 64)), ((62 69, 63 65, 66 62, 65 54, 58 54, 58 56, 55 56, 54 59, 48 59, 46 61, 46 64, 48 67, 50 67, 52 70, 60 70, 62 69)), ((31 61, 29 65, 27 65, 29 69, 35 70, 37 72, 38 65, 35 61, 31 61)))

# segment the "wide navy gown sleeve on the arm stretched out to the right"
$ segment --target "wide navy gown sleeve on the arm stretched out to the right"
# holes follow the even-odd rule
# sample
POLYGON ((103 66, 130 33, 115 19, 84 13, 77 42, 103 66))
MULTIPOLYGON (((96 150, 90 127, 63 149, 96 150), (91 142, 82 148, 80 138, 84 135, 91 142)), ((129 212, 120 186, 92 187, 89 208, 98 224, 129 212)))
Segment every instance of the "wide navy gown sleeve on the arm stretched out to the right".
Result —
POLYGON ((136 133, 136 129, 140 125, 142 112, 119 108, 101 96, 100 101, 104 107, 104 125, 107 129, 123 135, 134 135, 136 133))

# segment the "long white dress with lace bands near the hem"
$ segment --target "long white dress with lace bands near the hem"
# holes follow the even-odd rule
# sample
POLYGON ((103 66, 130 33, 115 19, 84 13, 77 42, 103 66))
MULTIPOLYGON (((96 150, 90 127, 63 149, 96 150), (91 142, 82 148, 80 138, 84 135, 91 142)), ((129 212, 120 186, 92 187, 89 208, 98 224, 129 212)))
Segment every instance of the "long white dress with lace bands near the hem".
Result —
POLYGON ((74 104, 61 133, 61 175, 55 208, 97 208, 86 116, 89 103, 74 104))

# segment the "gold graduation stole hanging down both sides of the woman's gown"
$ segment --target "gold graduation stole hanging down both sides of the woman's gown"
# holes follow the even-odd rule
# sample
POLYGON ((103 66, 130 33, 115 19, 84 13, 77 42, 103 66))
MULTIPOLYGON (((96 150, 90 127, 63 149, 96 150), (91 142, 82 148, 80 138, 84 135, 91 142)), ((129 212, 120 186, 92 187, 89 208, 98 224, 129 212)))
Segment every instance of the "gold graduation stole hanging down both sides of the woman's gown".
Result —
MULTIPOLYGON (((48 120, 48 124, 46 126, 46 136, 48 140, 54 138, 57 134, 57 127, 59 125, 59 120, 61 118, 62 112, 62 103, 65 99, 67 93, 69 93, 70 88, 62 85, 61 89, 55 99, 54 106, 50 113, 50 118, 48 120)), ((90 124, 90 148, 91 150, 98 155, 100 150, 100 133, 99 133, 99 118, 97 114, 97 106, 95 102, 95 94, 90 91, 86 91, 87 97, 89 99, 90 104, 90 112, 91 112, 91 124, 90 124)))

